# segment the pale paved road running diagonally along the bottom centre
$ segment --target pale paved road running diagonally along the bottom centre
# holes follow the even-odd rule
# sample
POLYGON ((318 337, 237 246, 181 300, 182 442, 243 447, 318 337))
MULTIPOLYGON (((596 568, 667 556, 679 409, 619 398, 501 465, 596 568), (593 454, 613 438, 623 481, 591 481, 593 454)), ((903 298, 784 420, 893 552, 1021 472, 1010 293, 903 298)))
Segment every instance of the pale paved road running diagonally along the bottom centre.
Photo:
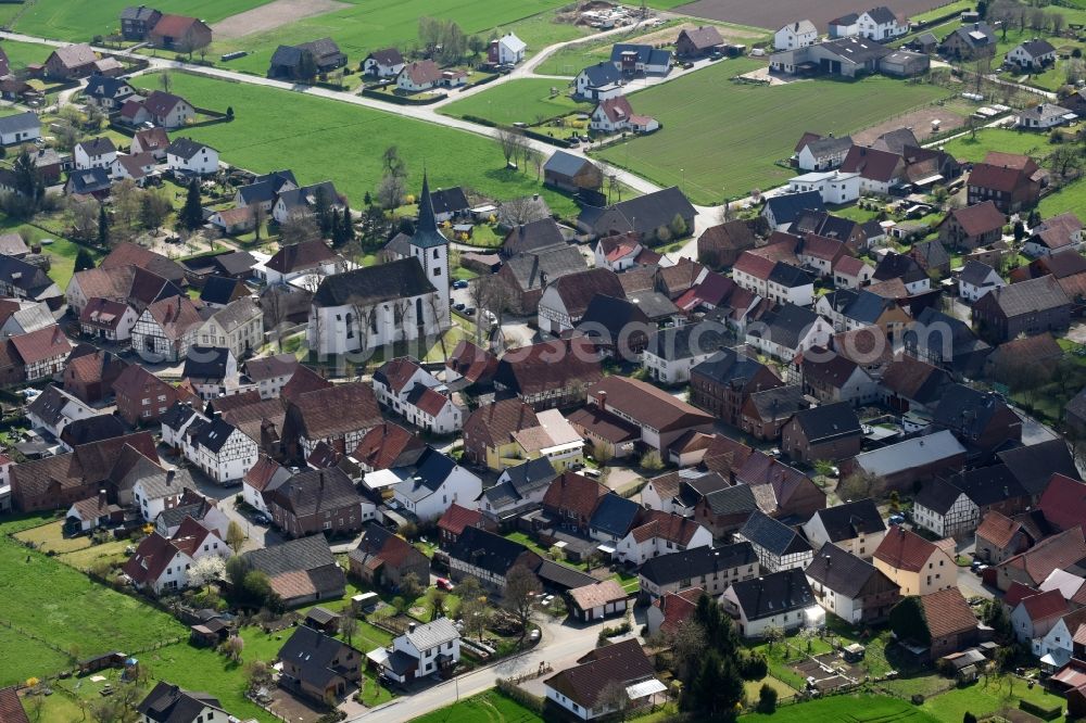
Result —
POLYGON ((508 658, 489 668, 460 675, 452 681, 438 683, 412 696, 404 696, 381 708, 348 719, 366 723, 402 723, 412 721, 432 710, 449 706, 494 687, 497 678, 534 671, 541 662, 554 670, 561 670, 596 646, 596 637, 604 623, 594 625, 565 625, 542 623, 543 638, 535 648, 515 658, 508 658))

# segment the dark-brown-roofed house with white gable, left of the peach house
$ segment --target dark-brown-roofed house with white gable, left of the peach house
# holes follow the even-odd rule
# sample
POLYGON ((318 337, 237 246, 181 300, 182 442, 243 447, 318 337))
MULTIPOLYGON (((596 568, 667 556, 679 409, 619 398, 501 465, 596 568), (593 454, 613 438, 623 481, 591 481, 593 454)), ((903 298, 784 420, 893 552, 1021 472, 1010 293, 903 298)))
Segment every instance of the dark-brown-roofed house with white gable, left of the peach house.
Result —
POLYGON ((901 599, 897 583, 833 543, 824 544, 804 572, 818 604, 853 624, 885 621, 901 599))

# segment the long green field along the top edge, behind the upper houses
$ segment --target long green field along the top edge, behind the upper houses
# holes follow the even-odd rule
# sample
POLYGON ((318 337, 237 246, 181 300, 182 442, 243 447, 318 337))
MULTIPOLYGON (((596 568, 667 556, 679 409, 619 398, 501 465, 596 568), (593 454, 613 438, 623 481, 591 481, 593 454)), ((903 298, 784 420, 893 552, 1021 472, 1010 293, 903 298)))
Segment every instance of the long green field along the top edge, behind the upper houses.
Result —
MULTIPOLYGON (((424 16, 455 21, 466 35, 485 35, 515 29, 525 18, 550 12, 565 4, 564 0, 348 0, 348 7, 334 12, 303 17, 274 30, 255 33, 242 38, 216 40, 209 56, 215 59, 238 50, 249 51, 247 58, 225 63, 226 67, 264 75, 272 53, 280 45, 296 45, 314 38, 331 37, 357 67, 369 52, 380 48, 408 49, 418 45, 418 18, 424 16)), ((577 31, 569 38, 578 37, 577 31)), ((558 30, 536 28, 535 40, 546 41, 558 30), (552 34, 553 33, 553 34, 552 34)), ((566 38, 568 39, 568 38, 566 38)), ((529 38, 526 38, 526 42, 529 38)), ((550 40, 554 42, 554 40, 550 40)), ((539 48, 534 48, 539 50, 539 48)))

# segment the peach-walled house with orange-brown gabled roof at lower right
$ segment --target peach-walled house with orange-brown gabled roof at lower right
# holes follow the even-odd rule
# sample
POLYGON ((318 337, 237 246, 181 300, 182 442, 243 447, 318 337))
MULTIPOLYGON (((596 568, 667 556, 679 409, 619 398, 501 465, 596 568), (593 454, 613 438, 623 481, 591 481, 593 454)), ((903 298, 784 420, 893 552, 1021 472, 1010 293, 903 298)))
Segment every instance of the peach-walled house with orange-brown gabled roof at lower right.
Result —
POLYGON ((932 543, 895 524, 873 557, 874 566, 900 586, 902 596, 923 597, 958 584, 954 541, 932 543))

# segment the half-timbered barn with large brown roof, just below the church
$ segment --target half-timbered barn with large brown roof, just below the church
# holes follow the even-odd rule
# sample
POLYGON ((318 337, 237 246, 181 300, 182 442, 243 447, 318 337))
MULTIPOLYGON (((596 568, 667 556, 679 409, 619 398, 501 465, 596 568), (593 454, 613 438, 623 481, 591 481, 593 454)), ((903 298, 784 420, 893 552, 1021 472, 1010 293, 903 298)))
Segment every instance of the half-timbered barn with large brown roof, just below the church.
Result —
POLYGON ((320 442, 345 454, 382 421, 372 388, 364 382, 348 382, 291 398, 282 436, 293 457, 308 457, 320 442))

